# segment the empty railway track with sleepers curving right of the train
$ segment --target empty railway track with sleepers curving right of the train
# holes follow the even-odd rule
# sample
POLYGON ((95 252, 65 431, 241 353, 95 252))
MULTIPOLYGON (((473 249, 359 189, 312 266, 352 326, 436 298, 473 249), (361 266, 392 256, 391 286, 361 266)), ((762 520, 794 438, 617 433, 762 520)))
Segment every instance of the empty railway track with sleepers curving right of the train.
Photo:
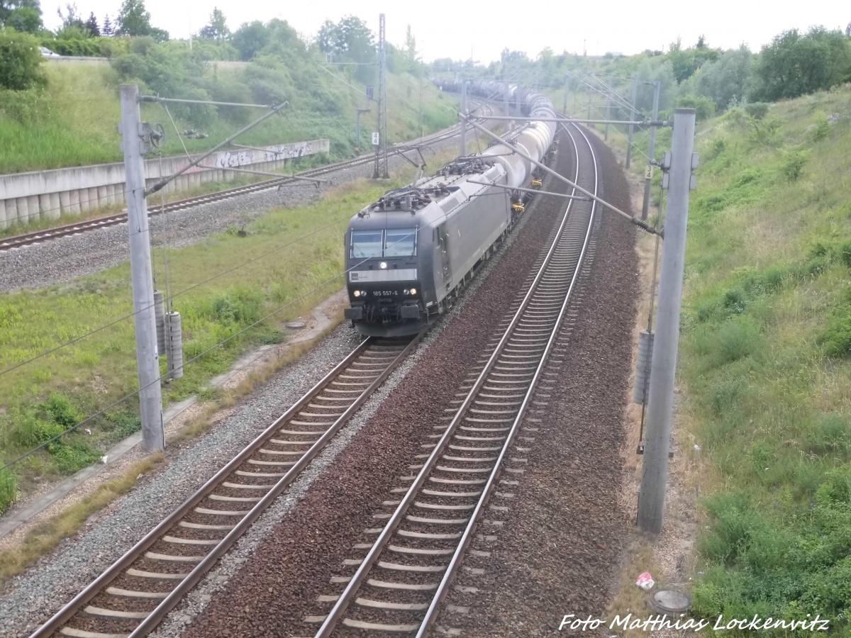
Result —
MULTIPOLYGON (((574 181, 597 192, 591 144, 586 138, 580 143, 578 128, 570 134, 574 181)), ((499 517, 507 509, 488 507, 489 499, 511 498, 514 478, 523 472, 528 448, 521 444, 534 440, 536 431, 524 418, 535 390, 553 374, 544 372, 545 363, 568 316, 594 220, 593 202, 568 204, 528 292, 500 325, 505 332, 477 362, 443 423, 433 426, 432 442, 422 446, 411 474, 401 477, 374 515, 381 527, 363 532, 328 594, 319 597, 316 613, 304 619, 303 635, 428 633, 483 515, 499 517)))

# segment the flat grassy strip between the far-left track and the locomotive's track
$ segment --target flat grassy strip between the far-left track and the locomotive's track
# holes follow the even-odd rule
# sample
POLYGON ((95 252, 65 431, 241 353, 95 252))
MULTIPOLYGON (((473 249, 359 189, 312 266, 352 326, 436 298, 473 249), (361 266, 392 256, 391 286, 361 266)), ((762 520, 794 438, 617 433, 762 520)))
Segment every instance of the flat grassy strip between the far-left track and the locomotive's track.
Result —
MULTIPOLYGON (((445 159, 435 157, 434 162, 445 159)), ((339 277, 323 283, 343 271, 341 237, 352 212, 387 188, 407 183, 411 173, 405 169, 390 183, 342 185, 311 206, 272 211, 248 224, 247 236, 234 227, 195 246, 169 250, 168 285, 174 310, 183 317, 184 356, 187 361, 200 358, 186 366, 183 379, 164 386, 164 401, 205 392, 208 380, 228 369, 248 346, 285 339, 283 322, 342 285, 339 277), (284 306, 269 321, 216 347, 284 306)), ((157 248, 155 275, 161 287, 163 264, 164 248, 157 248)), ((129 285, 129 265, 122 265, 70 285, 0 296, 0 370, 116 322, 0 374, 3 462, 136 388, 129 285)), ((14 498, 16 480, 26 489, 31 481, 78 470, 99 459, 112 441, 138 430, 135 405, 130 400, 86 424, 90 434, 83 429, 51 443, 44 453, 16 465, 16 476, 0 473, 0 508, 14 498)))

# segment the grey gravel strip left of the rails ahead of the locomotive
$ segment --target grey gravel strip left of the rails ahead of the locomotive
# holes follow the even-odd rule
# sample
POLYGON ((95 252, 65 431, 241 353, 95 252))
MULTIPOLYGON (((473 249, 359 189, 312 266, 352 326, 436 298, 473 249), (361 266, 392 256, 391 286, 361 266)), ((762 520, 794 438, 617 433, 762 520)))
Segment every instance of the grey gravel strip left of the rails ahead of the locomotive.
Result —
POLYGON ((11 578, 0 595, 0 635, 26 636, 62 604, 97 578, 151 527, 182 503, 209 476, 254 439, 359 343, 339 328, 321 345, 274 375, 263 389, 241 402, 197 442, 140 481, 127 497, 95 516, 78 535, 26 574, 11 578))

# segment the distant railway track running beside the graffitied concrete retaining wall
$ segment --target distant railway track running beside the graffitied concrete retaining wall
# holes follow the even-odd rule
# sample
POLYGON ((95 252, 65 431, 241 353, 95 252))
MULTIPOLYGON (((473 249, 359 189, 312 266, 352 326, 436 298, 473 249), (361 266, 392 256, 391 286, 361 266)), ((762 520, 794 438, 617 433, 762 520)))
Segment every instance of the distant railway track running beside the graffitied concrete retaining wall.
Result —
MULTIPOLYGON (((493 113, 493 109, 486 103, 480 104, 477 108, 483 111, 483 117, 480 118, 480 121, 482 119, 486 119, 487 115, 493 113)), ((419 145, 432 145, 437 144, 438 142, 441 142, 443 140, 447 140, 458 134, 457 129, 459 128, 459 126, 460 125, 456 125, 453 128, 450 128, 447 131, 443 131, 441 133, 426 135, 426 137, 417 140, 417 143, 419 145)), ((405 150, 406 149, 404 146, 402 148, 391 147, 390 149, 388 149, 388 152, 391 155, 402 155, 405 150)), ((345 160, 343 162, 334 162, 333 164, 328 164, 328 166, 312 168, 311 170, 302 171, 301 173, 294 174, 293 176, 282 176, 281 178, 276 179, 266 179, 264 181, 258 182, 257 184, 240 186, 238 188, 231 188, 226 191, 209 193, 208 195, 187 197, 186 199, 167 203, 162 207, 149 209, 148 217, 155 217, 163 213, 172 213, 175 211, 183 210, 185 208, 200 206, 209 202, 218 202, 220 200, 230 199, 231 197, 239 197, 241 195, 248 195, 250 193, 268 191, 270 189, 278 188, 283 185, 296 184, 299 182, 303 183, 304 179, 319 179, 323 175, 332 174, 337 171, 344 170, 346 168, 362 166, 363 164, 368 164, 371 162, 374 162, 373 155, 356 157, 354 159, 345 160)), ((109 226, 123 224, 126 221, 127 212, 123 211, 121 213, 106 215, 104 217, 79 221, 74 224, 55 226, 54 228, 49 228, 43 231, 33 231, 25 233, 23 235, 16 235, 8 237, 6 239, 0 239, 0 252, 3 252, 5 250, 12 250, 13 248, 22 248, 31 244, 49 242, 51 240, 59 239, 60 237, 64 236, 78 235, 87 231, 96 231, 100 228, 107 228, 109 226)))

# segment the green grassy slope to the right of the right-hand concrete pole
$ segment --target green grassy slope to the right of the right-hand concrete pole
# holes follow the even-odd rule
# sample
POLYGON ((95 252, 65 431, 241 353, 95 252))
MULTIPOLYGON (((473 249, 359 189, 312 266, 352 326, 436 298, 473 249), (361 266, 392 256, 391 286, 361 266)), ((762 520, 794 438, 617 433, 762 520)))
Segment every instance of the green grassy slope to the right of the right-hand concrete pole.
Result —
POLYGON ((677 417, 695 617, 848 631, 849 106, 845 87, 699 122, 677 417))

